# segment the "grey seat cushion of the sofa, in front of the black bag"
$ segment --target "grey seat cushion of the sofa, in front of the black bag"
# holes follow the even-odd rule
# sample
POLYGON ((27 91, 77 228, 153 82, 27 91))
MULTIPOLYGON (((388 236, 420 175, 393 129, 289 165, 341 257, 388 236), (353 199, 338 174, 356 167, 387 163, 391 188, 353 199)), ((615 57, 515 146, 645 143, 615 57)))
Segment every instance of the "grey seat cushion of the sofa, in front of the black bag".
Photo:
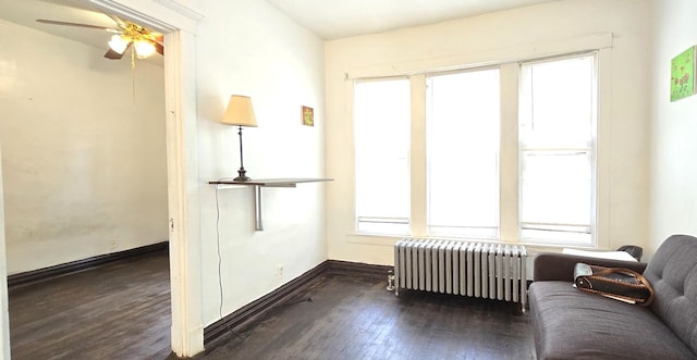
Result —
POLYGON ((650 309, 536 282, 529 306, 538 359, 693 359, 650 309))

